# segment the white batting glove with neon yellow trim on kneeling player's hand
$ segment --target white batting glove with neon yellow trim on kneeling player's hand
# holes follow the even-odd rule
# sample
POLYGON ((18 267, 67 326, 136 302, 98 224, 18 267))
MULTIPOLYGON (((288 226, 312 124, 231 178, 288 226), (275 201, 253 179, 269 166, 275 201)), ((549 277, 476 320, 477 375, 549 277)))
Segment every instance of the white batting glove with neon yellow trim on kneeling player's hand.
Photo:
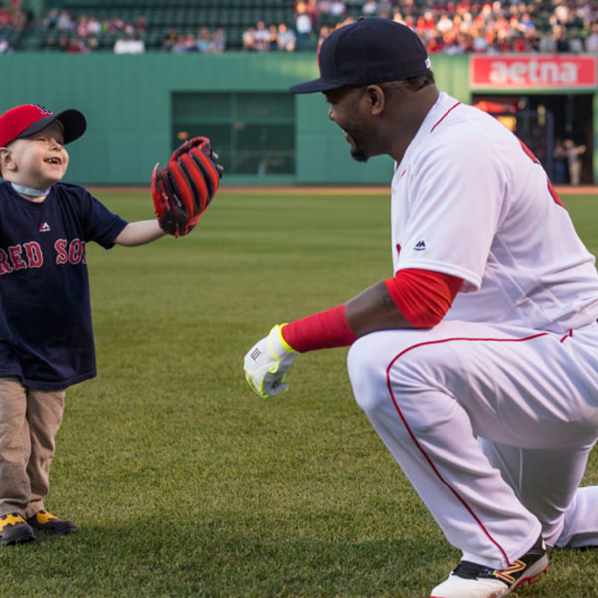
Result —
POLYGON ((267 337, 254 344, 243 359, 243 370, 249 386, 264 399, 285 392, 286 372, 298 355, 282 337, 283 325, 274 326, 267 337))

